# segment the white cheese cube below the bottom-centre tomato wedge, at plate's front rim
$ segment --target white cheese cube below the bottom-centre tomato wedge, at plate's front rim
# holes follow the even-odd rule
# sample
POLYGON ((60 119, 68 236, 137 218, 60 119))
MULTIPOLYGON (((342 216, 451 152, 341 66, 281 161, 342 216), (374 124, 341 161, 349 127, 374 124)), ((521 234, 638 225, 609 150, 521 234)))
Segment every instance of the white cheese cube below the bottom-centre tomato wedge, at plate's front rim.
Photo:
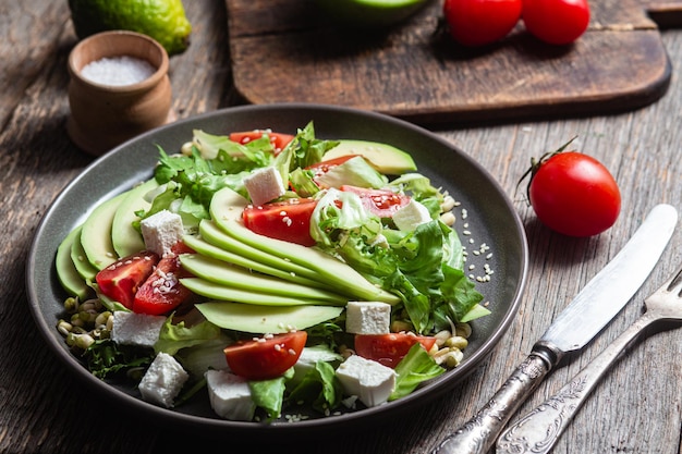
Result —
POLYGON ((208 370, 204 375, 210 406, 221 418, 251 421, 256 404, 251 398, 248 381, 227 370, 208 370))

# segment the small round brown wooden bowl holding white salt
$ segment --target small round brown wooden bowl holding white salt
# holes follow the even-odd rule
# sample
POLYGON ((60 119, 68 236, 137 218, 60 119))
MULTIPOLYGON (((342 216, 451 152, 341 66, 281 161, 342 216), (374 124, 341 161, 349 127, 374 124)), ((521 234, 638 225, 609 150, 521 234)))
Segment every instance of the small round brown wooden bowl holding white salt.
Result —
POLYGON ((84 151, 100 156, 123 142, 168 123, 172 90, 169 58, 153 38, 134 32, 112 30, 78 42, 69 56, 69 105, 66 131, 84 151), (105 85, 85 78, 83 68, 103 58, 132 57, 146 60, 156 72, 130 85, 105 85))

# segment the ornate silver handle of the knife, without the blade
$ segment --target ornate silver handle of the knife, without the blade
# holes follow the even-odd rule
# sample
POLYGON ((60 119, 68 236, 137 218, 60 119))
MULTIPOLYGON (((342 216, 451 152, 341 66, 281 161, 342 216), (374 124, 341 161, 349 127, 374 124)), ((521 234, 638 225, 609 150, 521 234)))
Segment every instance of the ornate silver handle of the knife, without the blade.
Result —
POLYGON ((521 404, 555 366, 533 352, 495 393, 492 398, 467 422, 449 435, 433 454, 485 454, 521 404))

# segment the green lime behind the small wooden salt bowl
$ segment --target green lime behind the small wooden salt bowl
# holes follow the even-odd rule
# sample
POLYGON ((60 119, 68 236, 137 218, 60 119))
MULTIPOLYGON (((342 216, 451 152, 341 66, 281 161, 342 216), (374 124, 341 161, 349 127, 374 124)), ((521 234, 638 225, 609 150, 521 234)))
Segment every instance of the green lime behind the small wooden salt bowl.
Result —
POLYGON ((69 0, 80 39, 99 32, 125 29, 159 41, 169 54, 190 45, 192 25, 181 0, 69 0))

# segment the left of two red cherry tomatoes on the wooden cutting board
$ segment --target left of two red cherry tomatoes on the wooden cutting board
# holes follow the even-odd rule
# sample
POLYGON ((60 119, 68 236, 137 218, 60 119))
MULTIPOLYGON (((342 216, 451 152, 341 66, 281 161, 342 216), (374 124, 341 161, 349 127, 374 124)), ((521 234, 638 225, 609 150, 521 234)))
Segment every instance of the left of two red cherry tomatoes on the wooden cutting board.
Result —
POLYGON ((521 0, 446 0, 443 3, 450 35, 464 46, 484 46, 502 39, 519 22, 521 10, 521 0))

